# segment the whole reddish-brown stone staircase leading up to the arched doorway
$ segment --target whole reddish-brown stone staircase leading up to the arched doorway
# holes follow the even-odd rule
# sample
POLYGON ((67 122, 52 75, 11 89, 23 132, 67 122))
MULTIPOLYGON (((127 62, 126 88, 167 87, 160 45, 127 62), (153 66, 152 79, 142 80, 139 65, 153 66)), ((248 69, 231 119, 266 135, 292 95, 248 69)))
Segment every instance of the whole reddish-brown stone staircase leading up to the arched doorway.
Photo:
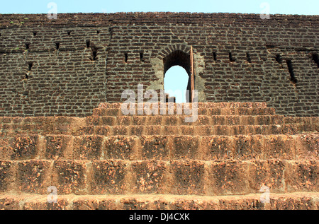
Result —
POLYGON ((198 102, 186 123, 179 104, 163 115, 121 105, 84 118, 0 117, 0 209, 319 208, 319 117, 198 102))

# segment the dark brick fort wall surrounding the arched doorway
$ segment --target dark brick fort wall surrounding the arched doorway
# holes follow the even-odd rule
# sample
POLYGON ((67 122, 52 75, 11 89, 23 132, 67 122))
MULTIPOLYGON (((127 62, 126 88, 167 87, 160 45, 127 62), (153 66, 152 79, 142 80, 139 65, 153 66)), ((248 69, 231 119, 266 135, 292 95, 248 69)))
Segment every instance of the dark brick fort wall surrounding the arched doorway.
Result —
POLYGON ((138 84, 162 89, 163 61, 193 46, 200 101, 318 116, 318 33, 319 16, 0 15, 0 115, 88 116, 138 84))

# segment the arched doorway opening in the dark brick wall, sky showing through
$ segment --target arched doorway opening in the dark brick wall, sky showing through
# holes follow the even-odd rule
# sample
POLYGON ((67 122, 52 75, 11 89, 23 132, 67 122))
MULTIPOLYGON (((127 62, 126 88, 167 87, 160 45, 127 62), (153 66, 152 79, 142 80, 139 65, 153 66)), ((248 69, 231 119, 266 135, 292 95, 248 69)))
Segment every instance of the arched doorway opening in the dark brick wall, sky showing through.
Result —
POLYGON ((176 102, 189 102, 191 99, 191 62, 189 54, 174 51, 163 59, 164 92, 175 97, 176 102), (189 91, 186 91, 189 90, 189 91))

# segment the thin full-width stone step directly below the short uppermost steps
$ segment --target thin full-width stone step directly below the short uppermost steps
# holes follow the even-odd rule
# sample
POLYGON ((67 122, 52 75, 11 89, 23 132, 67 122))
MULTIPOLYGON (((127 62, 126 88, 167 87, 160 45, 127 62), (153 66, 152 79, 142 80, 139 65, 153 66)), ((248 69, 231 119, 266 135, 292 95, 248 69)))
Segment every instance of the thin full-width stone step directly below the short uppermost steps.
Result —
POLYGON ((0 129, 72 129, 85 125, 270 125, 319 124, 319 117, 284 117, 282 115, 198 115, 196 122, 185 122, 186 115, 135 115, 89 117, 0 117, 0 129))

